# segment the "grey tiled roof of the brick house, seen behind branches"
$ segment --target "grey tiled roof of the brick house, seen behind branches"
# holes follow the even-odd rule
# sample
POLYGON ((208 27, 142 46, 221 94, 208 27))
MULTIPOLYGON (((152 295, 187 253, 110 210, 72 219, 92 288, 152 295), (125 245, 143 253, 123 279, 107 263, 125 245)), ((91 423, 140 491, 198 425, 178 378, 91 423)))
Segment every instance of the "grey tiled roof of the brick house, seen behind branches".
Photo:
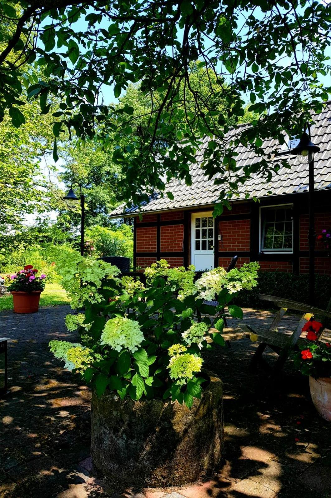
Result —
MULTIPOLYGON (((239 125, 230 129, 225 139, 233 137, 244 126, 248 125, 239 125)), ((131 208, 125 208, 124 205, 118 206, 110 216, 129 216, 139 212, 159 212, 194 206, 209 206, 217 202, 222 186, 215 185, 214 179, 218 178, 219 175, 216 174, 212 180, 208 180, 201 168, 203 150, 207 147, 208 140, 209 138, 204 140, 201 150, 196 154, 196 162, 190 166, 192 175, 192 185, 190 187, 185 184, 185 180, 172 180, 168 183, 166 191, 173 194, 173 200, 166 195, 154 194, 148 203, 142 203, 140 206, 132 206, 131 208)), ((315 188, 318 190, 331 188, 331 102, 328 103, 321 114, 316 116, 315 124, 312 127, 312 140, 315 145, 321 147, 321 152, 317 154, 315 159, 315 188)), ((275 139, 266 140, 264 143, 266 153, 277 147, 279 148, 279 145, 275 139)), ((254 152, 248 150, 242 144, 238 145, 235 150, 238 152, 236 161, 239 167, 244 167, 259 160, 254 152)), ((252 198, 270 195, 268 194, 270 191, 273 195, 307 191, 308 167, 300 164, 294 155, 286 155, 286 159, 291 165, 291 169, 281 168, 268 183, 265 178, 261 177, 260 173, 253 174, 244 185, 239 186, 239 197, 237 199, 244 199, 247 193, 249 198, 252 198)))

